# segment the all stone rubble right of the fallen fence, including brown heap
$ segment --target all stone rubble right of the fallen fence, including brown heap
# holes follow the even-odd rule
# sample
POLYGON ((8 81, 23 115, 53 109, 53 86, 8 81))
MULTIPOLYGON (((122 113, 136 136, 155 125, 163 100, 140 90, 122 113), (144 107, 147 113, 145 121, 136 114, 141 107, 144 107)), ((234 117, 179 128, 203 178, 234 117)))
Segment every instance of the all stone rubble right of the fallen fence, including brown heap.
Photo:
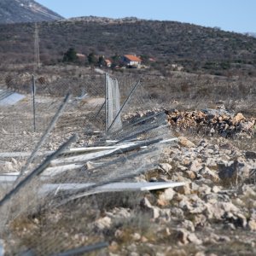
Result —
MULTIPOLYGON (((255 255, 255 118, 213 112, 167 112, 178 142, 166 146, 156 170, 136 178, 183 181, 185 186, 99 195, 83 216, 90 233, 84 234, 78 221, 76 230, 65 234, 77 245, 88 244, 90 237, 108 241, 108 249, 97 255, 255 255)), ((57 209, 47 221, 37 217, 30 225, 40 232, 60 227, 70 221, 65 212, 57 209)), ((16 232, 29 239, 37 234, 27 227, 16 232)))

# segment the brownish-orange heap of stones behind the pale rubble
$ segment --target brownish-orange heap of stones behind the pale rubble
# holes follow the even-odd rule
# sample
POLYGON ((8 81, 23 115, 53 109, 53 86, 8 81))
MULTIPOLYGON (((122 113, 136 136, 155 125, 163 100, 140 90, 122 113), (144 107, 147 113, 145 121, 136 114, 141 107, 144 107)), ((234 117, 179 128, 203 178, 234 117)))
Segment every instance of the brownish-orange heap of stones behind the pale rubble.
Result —
POLYGON ((234 137, 237 134, 253 135, 256 119, 246 118, 242 113, 228 113, 227 111, 205 109, 201 111, 166 111, 170 125, 179 130, 194 128, 197 133, 207 135, 221 135, 234 137))

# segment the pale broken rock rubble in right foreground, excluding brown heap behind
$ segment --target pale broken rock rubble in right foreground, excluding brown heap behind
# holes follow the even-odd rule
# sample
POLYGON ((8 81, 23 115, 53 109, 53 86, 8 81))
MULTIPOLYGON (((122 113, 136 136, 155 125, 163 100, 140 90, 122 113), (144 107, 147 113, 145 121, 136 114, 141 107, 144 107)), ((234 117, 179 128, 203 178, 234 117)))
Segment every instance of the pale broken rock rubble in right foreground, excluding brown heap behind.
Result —
POLYGON ((256 153, 223 137, 193 141, 179 137, 158 172, 139 177, 186 186, 142 195, 137 207, 96 220, 104 234, 112 230, 110 255, 255 255, 256 153))

